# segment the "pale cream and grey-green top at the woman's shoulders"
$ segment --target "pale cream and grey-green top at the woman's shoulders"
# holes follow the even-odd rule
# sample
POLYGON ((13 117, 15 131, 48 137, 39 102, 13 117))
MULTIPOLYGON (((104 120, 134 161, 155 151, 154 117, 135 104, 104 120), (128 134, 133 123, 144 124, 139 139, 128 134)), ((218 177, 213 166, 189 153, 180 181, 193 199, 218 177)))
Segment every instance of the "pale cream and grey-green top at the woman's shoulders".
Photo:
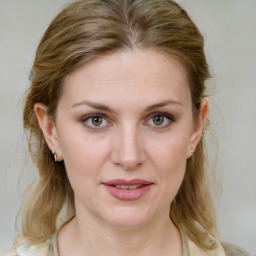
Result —
MULTIPOLYGON (((218 243, 215 250, 204 251, 185 235, 182 235, 183 256, 250 256, 238 246, 229 243, 218 243)), ((59 256, 57 234, 42 245, 22 245, 6 256, 59 256)))

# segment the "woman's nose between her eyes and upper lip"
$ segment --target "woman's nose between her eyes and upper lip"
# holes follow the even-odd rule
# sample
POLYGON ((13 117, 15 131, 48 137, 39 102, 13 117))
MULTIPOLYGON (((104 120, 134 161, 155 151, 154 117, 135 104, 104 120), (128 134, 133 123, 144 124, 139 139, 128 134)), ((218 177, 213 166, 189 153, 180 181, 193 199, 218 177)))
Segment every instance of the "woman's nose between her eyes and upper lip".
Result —
POLYGON ((144 143, 139 129, 129 125, 117 133, 113 141, 111 160, 124 170, 135 170, 146 160, 144 143))

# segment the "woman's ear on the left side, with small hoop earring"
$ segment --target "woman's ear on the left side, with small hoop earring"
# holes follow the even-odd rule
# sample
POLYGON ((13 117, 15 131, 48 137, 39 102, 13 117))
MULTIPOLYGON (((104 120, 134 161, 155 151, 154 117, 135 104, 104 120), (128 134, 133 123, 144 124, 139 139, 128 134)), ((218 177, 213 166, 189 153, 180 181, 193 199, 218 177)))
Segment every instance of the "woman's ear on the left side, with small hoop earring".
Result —
POLYGON ((34 105, 34 112, 49 149, 55 152, 57 161, 63 160, 56 125, 53 119, 47 114, 47 107, 42 103, 36 103, 34 105))

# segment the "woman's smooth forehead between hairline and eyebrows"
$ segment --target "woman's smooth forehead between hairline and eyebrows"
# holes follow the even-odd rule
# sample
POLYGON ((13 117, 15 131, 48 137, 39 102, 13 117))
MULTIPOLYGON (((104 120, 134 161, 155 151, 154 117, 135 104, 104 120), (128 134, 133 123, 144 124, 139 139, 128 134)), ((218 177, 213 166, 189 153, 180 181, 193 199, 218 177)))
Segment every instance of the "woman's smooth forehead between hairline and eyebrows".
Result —
POLYGON ((188 101, 187 75, 179 61, 156 50, 125 50, 96 57, 64 80, 64 97, 116 102, 133 97, 144 102, 168 98, 188 101))

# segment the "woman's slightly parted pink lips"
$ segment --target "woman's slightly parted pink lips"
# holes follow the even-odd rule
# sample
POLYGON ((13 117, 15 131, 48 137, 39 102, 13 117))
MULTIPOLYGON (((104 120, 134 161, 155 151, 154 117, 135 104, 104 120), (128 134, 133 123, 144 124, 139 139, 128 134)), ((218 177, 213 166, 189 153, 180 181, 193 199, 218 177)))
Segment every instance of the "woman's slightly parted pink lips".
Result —
POLYGON ((103 183, 105 188, 108 190, 110 195, 113 197, 123 200, 123 201, 131 201, 136 200, 145 195, 149 189, 152 187, 153 183, 146 181, 146 180, 140 180, 140 179, 134 179, 134 180, 123 180, 123 179, 116 179, 116 180, 110 180, 108 182, 103 183), (117 188, 115 186, 133 186, 132 189, 130 188, 117 188), (136 185, 141 185, 138 188, 134 188, 136 185))

